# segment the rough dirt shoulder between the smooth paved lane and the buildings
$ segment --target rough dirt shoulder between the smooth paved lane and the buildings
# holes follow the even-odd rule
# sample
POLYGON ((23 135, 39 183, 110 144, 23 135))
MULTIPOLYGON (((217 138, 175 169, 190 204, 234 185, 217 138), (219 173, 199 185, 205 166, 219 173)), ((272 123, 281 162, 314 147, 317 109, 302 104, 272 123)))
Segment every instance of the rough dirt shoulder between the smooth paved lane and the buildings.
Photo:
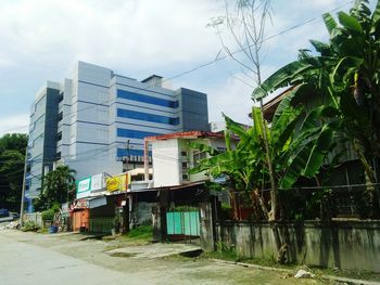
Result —
POLYGON ((0 251, 4 242, 37 246, 40 250, 59 252, 112 270, 125 276, 125 284, 128 284, 128 278, 141 280, 141 284, 337 284, 318 278, 296 280, 283 272, 215 260, 178 257, 176 252, 181 250, 181 245, 139 245, 84 239, 79 234, 36 234, 14 230, 0 231, 0 251), (168 257, 166 252, 172 254, 168 257))

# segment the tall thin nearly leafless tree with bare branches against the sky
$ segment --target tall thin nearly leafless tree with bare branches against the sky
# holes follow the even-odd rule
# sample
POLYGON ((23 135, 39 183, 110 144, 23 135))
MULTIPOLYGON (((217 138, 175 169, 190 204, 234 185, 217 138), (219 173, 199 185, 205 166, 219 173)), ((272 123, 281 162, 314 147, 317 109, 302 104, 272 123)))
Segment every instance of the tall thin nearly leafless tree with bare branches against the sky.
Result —
MULTIPOLYGON (((237 62, 243 68, 242 70, 245 69, 253 75, 252 77, 244 73, 249 78, 253 79, 257 86, 262 83, 262 48, 264 42, 265 27, 268 18, 270 20, 269 0, 237 0, 232 13, 230 12, 230 9, 226 1, 226 15, 224 17, 217 17, 211 24, 211 26, 216 28, 218 28, 218 26, 221 24, 226 25, 227 29, 232 35, 235 42, 239 47, 239 52, 241 52, 244 56, 243 59, 239 59, 237 56, 237 52, 231 52, 219 33, 219 39, 224 50, 235 62, 237 62)), ((258 100, 258 103, 262 109, 261 115, 263 116, 263 101, 258 100)), ((265 148, 263 152, 267 160, 265 167, 268 169, 271 187, 271 209, 269 219, 275 220, 278 218, 278 186, 277 180, 275 178, 268 138, 266 137, 267 131, 265 131, 266 124, 264 116, 259 121, 263 124, 262 128, 264 129, 263 142, 265 148)))

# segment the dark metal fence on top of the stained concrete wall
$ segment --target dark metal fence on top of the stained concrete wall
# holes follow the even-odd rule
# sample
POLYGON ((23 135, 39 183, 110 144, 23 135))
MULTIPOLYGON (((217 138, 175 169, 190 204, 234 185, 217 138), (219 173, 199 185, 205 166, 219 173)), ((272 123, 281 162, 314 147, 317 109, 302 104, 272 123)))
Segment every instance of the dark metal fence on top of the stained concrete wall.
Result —
MULTIPOLYGON (((217 209, 217 219, 265 220, 270 190, 228 192, 229 203, 217 209)), ((226 193, 220 193, 226 195, 226 193)), ((379 184, 294 187, 278 191, 280 219, 379 219, 379 184)))

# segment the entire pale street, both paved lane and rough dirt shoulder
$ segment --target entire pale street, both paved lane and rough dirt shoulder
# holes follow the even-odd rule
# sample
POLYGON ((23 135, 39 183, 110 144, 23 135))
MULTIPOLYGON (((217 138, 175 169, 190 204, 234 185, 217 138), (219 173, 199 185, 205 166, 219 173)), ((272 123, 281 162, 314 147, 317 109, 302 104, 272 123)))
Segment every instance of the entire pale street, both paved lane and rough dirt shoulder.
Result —
MULTIPOLYGON (((322 284, 213 260, 115 257, 112 243, 80 239, 78 234, 0 231, 0 284, 322 284)), ((130 252, 139 248, 148 249, 134 246, 130 252)))

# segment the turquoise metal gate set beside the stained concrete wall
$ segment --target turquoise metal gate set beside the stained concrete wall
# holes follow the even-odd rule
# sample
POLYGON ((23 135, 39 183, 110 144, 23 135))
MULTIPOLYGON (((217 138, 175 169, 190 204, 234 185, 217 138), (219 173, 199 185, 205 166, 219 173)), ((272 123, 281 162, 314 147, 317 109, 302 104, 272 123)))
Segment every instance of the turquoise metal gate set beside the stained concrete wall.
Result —
POLYGON ((201 228, 200 213, 199 211, 168 211, 166 212, 166 228, 169 239, 198 237, 201 228))

